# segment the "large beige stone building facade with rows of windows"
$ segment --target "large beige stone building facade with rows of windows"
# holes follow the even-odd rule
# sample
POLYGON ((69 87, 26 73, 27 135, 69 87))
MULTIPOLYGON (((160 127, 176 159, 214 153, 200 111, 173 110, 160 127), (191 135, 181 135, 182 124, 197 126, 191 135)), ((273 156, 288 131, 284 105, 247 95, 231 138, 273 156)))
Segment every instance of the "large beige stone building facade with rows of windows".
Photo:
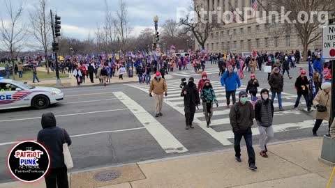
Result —
MULTIPOLYGON (((260 11, 260 15, 265 9, 268 11, 280 9, 274 8, 271 4, 271 0, 259 0, 258 8, 256 10, 260 11), (263 6, 261 6, 261 5, 263 6)), ((207 11, 220 12, 224 15, 224 12, 231 12, 232 8, 234 10, 244 10, 244 8, 251 7, 251 0, 198 0, 198 8, 203 8, 207 11), (220 7, 220 8, 218 8, 220 7), (215 9, 216 8, 216 9, 215 9)), ((209 33, 209 38, 207 38, 205 48, 212 53, 241 53, 241 52, 251 52, 256 50, 258 52, 291 52, 292 50, 303 51, 303 45, 295 26, 293 24, 281 24, 271 22, 260 23, 255 17, 251 16, 251 11, 246 12, 247 19, 242 19, 244 14, 237 14, 237 19, 240 19, 242 23, 228 23, 221 26, 221 29, 214 29, 209 33)), ((224 17, 224 16, 223 16, 224 17)), ((261 18, 260 18, 261 19, 261 18)), ((267 20, 273 20, 275 17, 268 17, 267 20)), ((279 16, 278 19, 281 19, 279 16)), ((319 29, 316 32, 322 32, 319 29)), ((311 37, 314 36, 312 33, 311 37)), ((198 42, 196 42, 195 47, 200 48, 198 42)), ((322 48, 322 38, 313 42, 308 46, 308 49, 312 51, 314 49, 322 48)))

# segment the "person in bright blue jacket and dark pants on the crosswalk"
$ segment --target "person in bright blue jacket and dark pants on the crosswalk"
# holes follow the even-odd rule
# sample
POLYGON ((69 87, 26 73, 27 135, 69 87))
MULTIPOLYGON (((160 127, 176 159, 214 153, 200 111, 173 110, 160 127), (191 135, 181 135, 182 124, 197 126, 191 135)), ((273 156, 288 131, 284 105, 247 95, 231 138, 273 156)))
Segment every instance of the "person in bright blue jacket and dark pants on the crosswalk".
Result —
POLYGON ((221 77, 221 85, 225 86, 225 97, 227 98, 227 107, 230 107, 230 95, 232 95, 232 104, 236 102, 236 90, 241 87, 241 80, 234 68, 228 66, 228 71, 226 71, 221 77))

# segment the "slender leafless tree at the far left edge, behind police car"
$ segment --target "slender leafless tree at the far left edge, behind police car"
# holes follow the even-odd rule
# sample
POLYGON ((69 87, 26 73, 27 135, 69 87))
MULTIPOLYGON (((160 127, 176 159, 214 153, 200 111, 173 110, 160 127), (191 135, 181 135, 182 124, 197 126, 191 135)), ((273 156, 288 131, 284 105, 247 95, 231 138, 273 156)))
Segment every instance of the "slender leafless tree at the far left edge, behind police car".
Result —
POLYGON ((27 30, 24 24, 20 24, 20 19, 23 13, 23 3, 20 1, 20 5, 17 6, 17 10, 14 10, 12 1, 4 0, 3 3, 6 5, 6 13, 9 20, 5 20, 1 17, 0 36, 3 46, 10 54, 13 63, 13 79, 15 79, 15 61, 14 59, 20 53, 20 50, 27 42, 27 30))

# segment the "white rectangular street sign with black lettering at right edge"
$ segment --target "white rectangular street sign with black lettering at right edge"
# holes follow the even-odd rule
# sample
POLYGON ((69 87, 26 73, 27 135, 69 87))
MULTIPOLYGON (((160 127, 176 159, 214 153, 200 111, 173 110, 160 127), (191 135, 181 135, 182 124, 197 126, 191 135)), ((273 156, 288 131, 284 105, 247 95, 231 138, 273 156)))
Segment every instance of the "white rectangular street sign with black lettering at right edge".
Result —
POLYGON ((335 24, 323 28, 322 58, 335 59, 335 24))

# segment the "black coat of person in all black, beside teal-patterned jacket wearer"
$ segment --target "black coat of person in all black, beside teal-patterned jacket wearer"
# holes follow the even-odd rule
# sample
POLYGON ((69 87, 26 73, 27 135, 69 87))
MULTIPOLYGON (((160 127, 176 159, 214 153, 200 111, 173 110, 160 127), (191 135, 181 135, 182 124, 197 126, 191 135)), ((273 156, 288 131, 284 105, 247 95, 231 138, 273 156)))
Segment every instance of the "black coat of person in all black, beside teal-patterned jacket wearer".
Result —
POLYGON ((200 105, 200 97, 197 90, 197 86, 195 84, 190 85, 190 83, 186 84, 186 86, 181 90, 180 93, 181 97, 184 97, 184 106, 191 107, 191 106, 198 106, 200 105), (186 91, 186 95, 184 94, 186 91))

